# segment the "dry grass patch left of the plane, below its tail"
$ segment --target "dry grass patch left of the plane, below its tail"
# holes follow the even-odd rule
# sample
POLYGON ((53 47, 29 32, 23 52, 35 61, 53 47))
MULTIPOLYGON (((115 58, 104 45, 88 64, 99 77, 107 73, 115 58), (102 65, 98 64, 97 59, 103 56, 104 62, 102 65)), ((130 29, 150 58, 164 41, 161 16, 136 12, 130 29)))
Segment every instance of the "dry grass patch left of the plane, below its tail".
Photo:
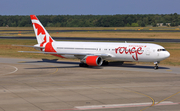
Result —
POLYGON ((50 58, 57 59, 55 56, 48 54, 35 53, 19 53, 18 51, 37 51, 34 48, 12 46, 16 45, 35 45, 36 40, 15 40, 15 39, 0 39, 0 57, 15 57, 15 58, 50 58))

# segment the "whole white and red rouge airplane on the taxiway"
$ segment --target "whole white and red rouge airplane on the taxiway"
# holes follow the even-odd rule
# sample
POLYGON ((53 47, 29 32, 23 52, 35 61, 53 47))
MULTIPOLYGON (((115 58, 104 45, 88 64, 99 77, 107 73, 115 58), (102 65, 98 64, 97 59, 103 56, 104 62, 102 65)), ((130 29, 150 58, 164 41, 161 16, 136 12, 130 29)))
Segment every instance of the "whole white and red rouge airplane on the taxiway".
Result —
POLYGON ((160 45, 153 43, 116 43, 116 42, 72 42, 55 41, 36 15, 30 15, 39 51, 19 51, 26 53, 51 54, 60 58, 80 59, 80 67, 101 66, 108 61, 154 62, 158 69, 160 61, 168 58, 170 53, 160 45))

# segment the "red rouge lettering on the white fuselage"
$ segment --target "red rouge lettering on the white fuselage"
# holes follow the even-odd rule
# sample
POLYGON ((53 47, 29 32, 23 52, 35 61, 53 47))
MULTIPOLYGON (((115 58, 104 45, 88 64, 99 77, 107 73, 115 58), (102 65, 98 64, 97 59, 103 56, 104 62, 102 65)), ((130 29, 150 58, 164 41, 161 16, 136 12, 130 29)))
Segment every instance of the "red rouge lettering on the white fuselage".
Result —
POLYGON ((130 54, 132 55, 132 58, 136 61, 138 61, 138 56, 143 54, 142 47, 132 47, 132 48, 127 48, 127 47, 118 47, 115 48, 115 53, 116 54, 130 54))

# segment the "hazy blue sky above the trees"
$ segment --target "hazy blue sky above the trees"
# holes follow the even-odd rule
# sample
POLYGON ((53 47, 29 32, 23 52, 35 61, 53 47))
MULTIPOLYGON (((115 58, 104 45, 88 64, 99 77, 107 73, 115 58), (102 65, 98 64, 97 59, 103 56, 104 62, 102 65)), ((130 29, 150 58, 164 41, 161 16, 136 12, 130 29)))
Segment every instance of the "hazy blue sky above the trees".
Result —
POLYGON ((1 0, 0 15, 180 14, 180 0, 1 0))

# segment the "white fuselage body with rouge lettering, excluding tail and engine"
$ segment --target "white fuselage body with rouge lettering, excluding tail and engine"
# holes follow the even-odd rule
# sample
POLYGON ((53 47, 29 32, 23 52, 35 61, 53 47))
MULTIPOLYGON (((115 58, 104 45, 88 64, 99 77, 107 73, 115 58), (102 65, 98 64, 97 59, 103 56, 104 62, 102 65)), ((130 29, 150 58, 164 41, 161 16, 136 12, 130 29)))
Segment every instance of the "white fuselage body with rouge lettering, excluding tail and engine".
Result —
MULTIPOLYGON (((164 47, 151 43, 114 43, 114 42, 52 42, 56 52, 107 54, 103 60, 156 62, 170 56, 164 47)), ((84 56, 62 55, 65 58, 82 59, 84 56)))

